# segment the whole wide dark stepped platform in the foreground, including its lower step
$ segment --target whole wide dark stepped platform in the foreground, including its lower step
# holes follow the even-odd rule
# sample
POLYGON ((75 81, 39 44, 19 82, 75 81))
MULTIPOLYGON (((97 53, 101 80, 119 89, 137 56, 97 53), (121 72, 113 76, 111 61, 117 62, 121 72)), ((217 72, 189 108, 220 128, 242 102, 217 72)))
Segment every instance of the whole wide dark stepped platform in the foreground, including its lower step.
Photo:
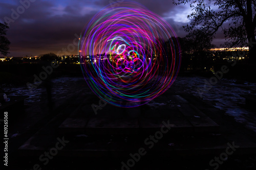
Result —
POLYGON ((106 105, 97 115, 91 102, 81 101, 67 116, 59 113, 20 146, 18 153, 39 156, 54 147, 57 137, 64 136, 70 142, 58 156, 125 157, 141 147, 148 148, 145 139, 160 131, 163 121, 173 126, 149 155, 219 154, 232 141, 240 146, 236 154, 256 153, 256 143, 245 129, 236 122, 226 122, 219 109, 191 95, 165 93, 153 105, 131 109, 106 105))

